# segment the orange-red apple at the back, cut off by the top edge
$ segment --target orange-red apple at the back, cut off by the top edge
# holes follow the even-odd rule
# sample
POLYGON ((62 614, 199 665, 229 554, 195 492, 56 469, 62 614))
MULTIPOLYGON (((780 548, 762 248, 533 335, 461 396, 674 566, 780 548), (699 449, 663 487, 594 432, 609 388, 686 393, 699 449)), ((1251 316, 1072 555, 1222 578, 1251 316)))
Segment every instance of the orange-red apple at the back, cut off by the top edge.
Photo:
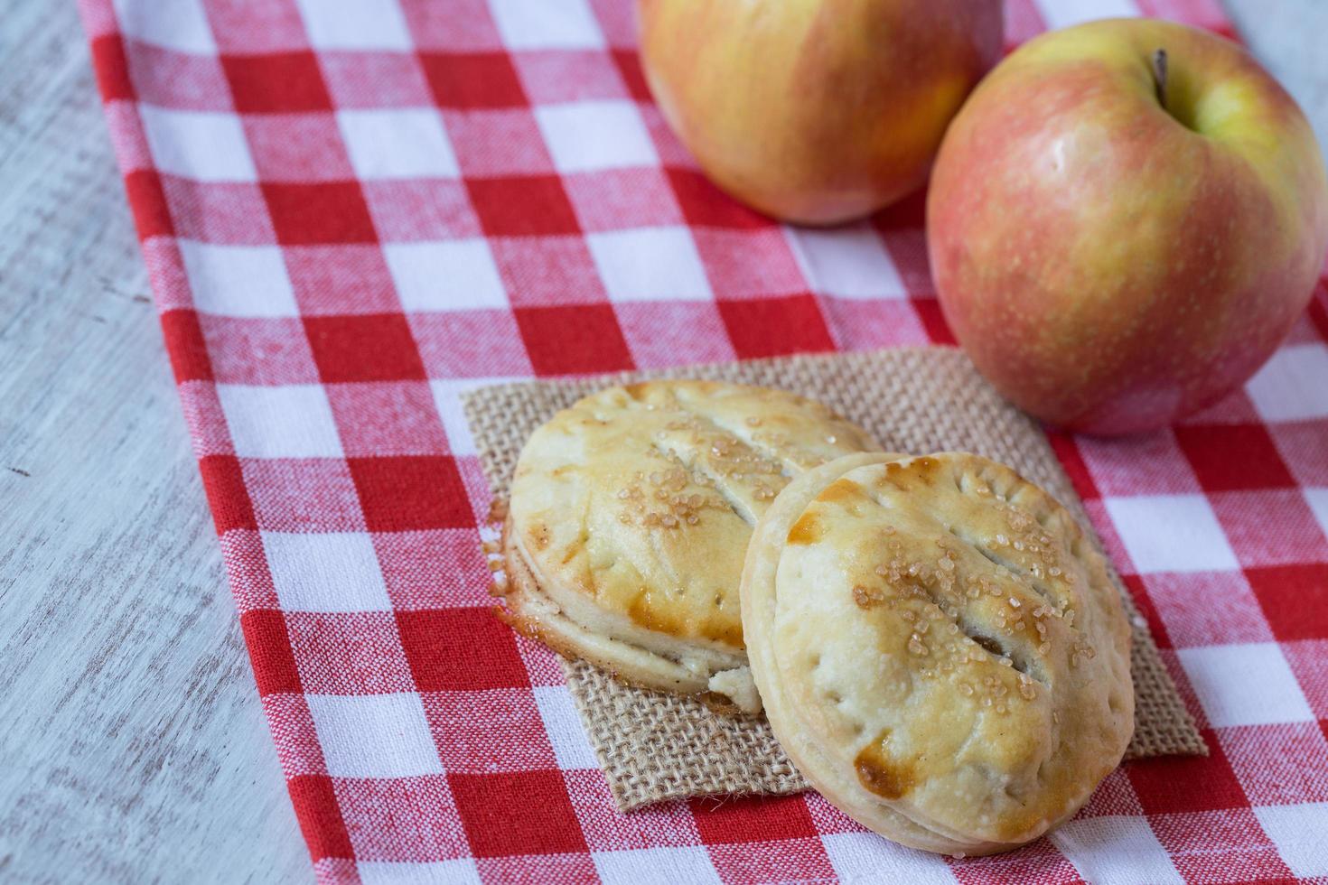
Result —
POLYGON ((641 66, 706 175, 831 224, 922 184, 1000 57, 1001 0, 639 0, 641 66))

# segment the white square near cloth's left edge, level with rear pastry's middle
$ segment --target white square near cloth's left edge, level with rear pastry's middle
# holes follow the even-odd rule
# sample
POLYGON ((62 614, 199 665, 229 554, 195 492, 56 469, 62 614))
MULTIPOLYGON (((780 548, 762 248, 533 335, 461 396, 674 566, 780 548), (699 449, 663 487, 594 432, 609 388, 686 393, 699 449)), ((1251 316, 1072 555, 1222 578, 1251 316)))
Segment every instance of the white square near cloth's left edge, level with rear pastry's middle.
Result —
POLYGON ((368 533, 263 532, 263 552, 287 612, 392 610, 368 533))

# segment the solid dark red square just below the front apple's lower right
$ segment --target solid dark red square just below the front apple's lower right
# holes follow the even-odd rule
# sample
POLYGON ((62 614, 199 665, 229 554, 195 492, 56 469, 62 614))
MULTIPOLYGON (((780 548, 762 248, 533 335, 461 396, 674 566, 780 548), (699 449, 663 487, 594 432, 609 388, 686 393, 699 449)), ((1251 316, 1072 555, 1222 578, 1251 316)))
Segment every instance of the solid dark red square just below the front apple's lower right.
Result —
POLYGON ((1206 491, 1296 484, 1262 425, 1179 426, 1175 439, 1206 491))

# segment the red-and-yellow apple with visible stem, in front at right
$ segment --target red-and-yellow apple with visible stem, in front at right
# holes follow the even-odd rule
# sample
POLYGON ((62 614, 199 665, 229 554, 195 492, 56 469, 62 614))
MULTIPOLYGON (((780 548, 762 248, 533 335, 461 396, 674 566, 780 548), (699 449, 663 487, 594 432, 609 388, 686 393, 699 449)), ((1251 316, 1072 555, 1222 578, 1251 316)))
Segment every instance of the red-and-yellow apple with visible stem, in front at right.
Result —
POLYGON ((973 92, 936 159, 927 245, 946 318, 1005 397, 1072 430, 1146 430, 1287 336, 1328 248, 1328 180, 1243 49, 1094 21, 973 92))

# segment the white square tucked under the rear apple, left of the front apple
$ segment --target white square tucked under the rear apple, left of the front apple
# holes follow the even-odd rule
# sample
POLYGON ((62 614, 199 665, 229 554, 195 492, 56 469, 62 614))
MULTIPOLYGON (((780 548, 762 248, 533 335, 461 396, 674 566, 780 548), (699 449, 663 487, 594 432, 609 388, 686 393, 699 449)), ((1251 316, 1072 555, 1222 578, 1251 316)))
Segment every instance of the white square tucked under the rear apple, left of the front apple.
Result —
POLYGON ((907 299, 880 235, 859 223, 833 231, 786 227, 811 287, 839 299, 907 299))

